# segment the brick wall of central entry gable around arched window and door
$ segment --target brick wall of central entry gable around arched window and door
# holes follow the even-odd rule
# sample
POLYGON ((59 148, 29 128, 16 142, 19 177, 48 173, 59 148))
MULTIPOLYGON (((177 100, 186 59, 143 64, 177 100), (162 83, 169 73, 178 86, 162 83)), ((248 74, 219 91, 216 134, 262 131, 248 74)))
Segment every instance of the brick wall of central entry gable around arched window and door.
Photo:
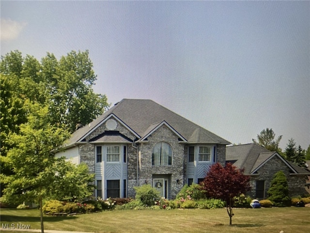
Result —
MULTIPOLYGON (((141 169, 139 168, 139 185, 145 182, 152 184, 153 175, 170 175, 170 194, 174 199, 183 187, 184 180, 184 144, 180 144, 178 136, 173 133, 166 125, 157 129, 148 137, 147 143, 139 145, 141 151, 141 169), (172 165, 170 166, 152 166, 152 151, 156 143, 169 143, 172 149, 172 165), (180 180, 177 183, 176 180, 180 180)), ((129 189, 129 188, 128 188, 129 189)))

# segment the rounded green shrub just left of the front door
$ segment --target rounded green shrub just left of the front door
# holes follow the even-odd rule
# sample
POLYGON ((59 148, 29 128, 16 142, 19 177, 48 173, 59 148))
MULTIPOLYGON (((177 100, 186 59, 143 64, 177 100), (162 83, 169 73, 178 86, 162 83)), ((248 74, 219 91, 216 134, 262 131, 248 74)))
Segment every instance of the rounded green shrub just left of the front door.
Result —
MULTIPOLYGON (((139 187, 134 187, 136 190, 136 200, 140 200, 144 205, 155 205, 155 200, 159 200, 159 192, 150 184, 143 184, 139 187)), ((130 202, 129 202, 130 203, 130 202)))

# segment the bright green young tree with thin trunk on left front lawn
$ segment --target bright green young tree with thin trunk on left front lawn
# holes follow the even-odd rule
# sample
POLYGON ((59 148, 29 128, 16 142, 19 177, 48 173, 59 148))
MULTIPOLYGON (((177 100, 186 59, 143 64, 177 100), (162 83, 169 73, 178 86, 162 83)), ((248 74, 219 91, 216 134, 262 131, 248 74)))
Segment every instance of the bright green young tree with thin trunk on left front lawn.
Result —
POLYGON ((27 123, 20 125, 18 134, 10 134, 9 141, 14 147, 4 157, 13 174, 1 173, 1 180, 6 185, 3 199, 8 203, 38 203, 43 233, 43 200, 88 196, 92 193, 88 183, 93 177, 83 166, 74 168, 69 162, 54 158, 51 151, 59 148, 69 134, 49 123, 48 106, 30 100, 26 100, 25 105, 27 123))

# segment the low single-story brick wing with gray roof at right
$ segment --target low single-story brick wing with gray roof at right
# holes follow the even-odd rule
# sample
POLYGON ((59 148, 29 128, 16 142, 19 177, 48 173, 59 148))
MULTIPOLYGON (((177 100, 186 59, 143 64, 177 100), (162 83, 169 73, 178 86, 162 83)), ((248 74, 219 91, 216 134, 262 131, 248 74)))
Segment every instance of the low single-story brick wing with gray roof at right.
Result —
POLYGON ((248 194, 252 198, 267 198, 270 182, 279 170, 286 175, 291 197, 307 194, 306 181, 310 172, 285 160, 278 152, 270 152, 255 143, 230 146, 226 147, 228 162, 244 168, 244 173, 250 175, 252 189, 248 194))

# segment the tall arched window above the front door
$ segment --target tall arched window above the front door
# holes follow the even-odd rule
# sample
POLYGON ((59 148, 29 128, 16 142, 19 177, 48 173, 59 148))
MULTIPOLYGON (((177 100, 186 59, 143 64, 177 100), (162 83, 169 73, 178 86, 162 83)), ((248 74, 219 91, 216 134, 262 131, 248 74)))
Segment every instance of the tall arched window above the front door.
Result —
POLYGON ((171 165, 172 150, 171 146, 166 142, 159 142, 153 148, 152 165, 171 165))

